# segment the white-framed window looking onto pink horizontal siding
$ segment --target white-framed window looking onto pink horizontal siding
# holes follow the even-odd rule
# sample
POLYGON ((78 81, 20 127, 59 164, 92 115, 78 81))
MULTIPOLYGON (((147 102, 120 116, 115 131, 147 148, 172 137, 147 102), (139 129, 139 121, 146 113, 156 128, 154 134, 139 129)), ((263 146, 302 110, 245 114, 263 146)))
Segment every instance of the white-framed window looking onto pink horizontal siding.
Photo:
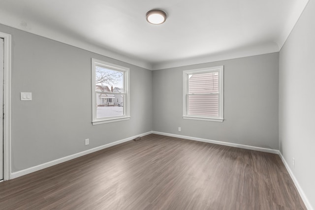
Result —
POLYGON ((223 121, 223 66, 183 71, 183 118, 223 121))

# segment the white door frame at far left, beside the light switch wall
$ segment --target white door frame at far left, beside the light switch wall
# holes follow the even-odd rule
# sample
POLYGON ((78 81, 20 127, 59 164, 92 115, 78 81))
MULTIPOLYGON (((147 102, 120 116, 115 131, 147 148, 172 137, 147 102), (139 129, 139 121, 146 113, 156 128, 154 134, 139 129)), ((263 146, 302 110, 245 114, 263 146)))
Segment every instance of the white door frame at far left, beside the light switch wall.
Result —
MULTIPOLYGON (((3 38, 3 180, 11 179, 11 34, 3 38)), ((1 90, 0 90, 1 91, 1 90)))

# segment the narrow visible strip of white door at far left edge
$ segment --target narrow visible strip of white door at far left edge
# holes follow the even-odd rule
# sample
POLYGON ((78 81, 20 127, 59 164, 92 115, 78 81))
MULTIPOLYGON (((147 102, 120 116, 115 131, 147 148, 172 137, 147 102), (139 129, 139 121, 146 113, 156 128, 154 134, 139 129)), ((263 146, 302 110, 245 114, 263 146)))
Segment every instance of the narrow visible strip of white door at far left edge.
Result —
POLYGON ((0 38, 0 180, 3 180, 3 38, 0 38))

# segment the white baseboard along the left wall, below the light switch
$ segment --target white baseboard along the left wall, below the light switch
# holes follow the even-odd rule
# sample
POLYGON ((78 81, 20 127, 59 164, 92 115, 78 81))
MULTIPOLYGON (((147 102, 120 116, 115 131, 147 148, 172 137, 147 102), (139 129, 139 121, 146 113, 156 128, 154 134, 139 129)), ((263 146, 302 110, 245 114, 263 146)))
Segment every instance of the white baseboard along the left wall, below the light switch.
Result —
POLYGON ((119 140, 119 141, 116 141, 116 142, 112 142, 112 143, 109 143, 109 144, 106 144, 106 145, 103 145, 103 146, 99 146, 99 147, 96 147, 96 148, 93 148, 93 149, 90 149, 90 150, 85 150, 85 151, 81 151, 81 152, 76 153, 76 154, 71 154, 71 155, 68 155, 66 157, 59 158, 57 160, 52 160, 52 161, 49 161, 47 163, 43 163, 43 164, 40 164, 40 165, 37 165, 37 166, 33 166, 31 168, 27 168, 27 169, 24 169, 24 170, 21 170, 21 171, 17 171, 17 172, 11 173, 11 179, 18 178, 18 177, 30 174, 30 173, 35 172, 35 171, 39 171, 41 169, 48 168, 50 166, 54 166, 54 165, 57 165, 59 163, 63 163, 65 161, 72 160, 74 158, 77 158, 77 157, 80 157, 80 156, 83 156, 83 155, 86 155, 86 154, 90 154, 90 153, 98 151, 98 150, 103 150, 105 148, 109 148, 109 147, 112 147, 112 146, 115 146, 115 145, 118 145, 118 144, 122 144, 124 142, 133 140, 134 138, 136 138, 138 136, 145 136, 145 135, 149 135, 151 133, 152 133, 152 131, 146 132, 146 133, 142 133, 142 134, 139 134, 139 135, 136 135, 136 136, 132 136, 132 137, 129 137, 129 138, 126 138, 126 139, 122 139, 122 140, 119 140))

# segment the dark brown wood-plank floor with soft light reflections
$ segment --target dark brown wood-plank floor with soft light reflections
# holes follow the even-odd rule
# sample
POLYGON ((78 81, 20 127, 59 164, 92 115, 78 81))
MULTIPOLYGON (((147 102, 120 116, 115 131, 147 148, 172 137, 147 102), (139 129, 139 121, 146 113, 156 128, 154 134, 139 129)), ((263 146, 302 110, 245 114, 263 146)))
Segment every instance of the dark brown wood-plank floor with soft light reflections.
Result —
POLYGON ((306 210, 277 154, 150 134, 0 183, 3 210, 306 210))

